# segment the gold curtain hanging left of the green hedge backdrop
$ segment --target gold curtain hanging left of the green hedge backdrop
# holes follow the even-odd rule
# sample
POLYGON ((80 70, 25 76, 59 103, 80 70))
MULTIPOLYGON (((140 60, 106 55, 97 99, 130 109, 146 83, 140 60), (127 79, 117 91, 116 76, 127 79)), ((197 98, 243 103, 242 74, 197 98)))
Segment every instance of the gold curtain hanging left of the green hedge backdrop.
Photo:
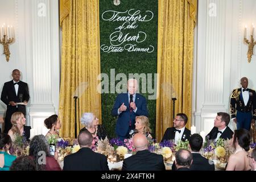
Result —
POLYGON ((99 2, 95 0, 60 0, 62 27, 61 82, 59 117, 61 137, 75 136, 75 103, 77 131, 84 112, 93 112, 101 121, 100 20, 99 2))

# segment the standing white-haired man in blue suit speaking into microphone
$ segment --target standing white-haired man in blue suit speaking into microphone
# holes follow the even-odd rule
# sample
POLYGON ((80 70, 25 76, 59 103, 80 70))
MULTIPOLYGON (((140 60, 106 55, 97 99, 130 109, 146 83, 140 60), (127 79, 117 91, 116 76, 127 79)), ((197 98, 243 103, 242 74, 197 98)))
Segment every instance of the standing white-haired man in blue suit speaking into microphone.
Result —
POLYGON ((148 117, 147 102, 141 94, 136 93, 138 82, 136 79, 129 79, 127 82, 127 93, 118 94, 112 115, 118 116, 115 133, 120 139, 129 138, 130 130, 135 127, 135 117, 144 115, 148 117))

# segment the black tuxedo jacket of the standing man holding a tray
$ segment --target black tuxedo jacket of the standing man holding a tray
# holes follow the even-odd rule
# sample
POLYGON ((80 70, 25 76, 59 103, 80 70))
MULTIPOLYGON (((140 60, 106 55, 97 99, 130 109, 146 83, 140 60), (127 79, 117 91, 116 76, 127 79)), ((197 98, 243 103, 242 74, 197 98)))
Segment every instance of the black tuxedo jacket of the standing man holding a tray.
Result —
MULTIPOLYGON (((7 109, 11 109, 11 107, 16 107, 16 106, 9 105, 10 101, 14 101, 14 102, 27 101, 28 102, 28 100, 30 100, 30 94, 28 93, 27 83, 23 81, 19 81, 19 89, 18 89, 18 94, 16 96, 13 80, 9 82, 5 82, 5 85, 3 85, 3 90, 1 94, 1 101, 3 101, 7 105, 7 109), (19 94, 22 94, 22 101, 20 101, 19 94)), ((22 111, 22 113, 24 114, 26 113, 26 106, 18 105, 18 110, 22 111)))

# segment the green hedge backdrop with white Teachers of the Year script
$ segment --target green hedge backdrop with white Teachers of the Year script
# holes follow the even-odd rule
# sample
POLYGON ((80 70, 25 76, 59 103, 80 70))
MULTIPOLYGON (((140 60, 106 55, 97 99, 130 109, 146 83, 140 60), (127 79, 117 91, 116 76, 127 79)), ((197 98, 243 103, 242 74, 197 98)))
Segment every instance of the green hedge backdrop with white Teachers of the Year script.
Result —
MULTIPOLYGON (((137 16, 139 16, 139 14, 137 16)), ((118 16, 129 16, 127 13, 118 14, 118 16)), ((130 24, 133 21, 130 21, 130 24)), ((125 27, 128 23, 125 24, 125 27)), ((157 72, 157 35, 158 35, 158 0, 150 0, 150 1, 138 1, 138 0, 126 0, 121 1, 119 6, 115 6, 112 0, 101 0, 100 1, 100 44, 101 44, 101 73, 106 73, 109 76, 109 80, 106 78, 102 78, 101 81, 109 82, 109 93, 101 94, 102 101, 102 123, 105 126, 108 135, 110 138, 114 138, 115 136, 115 123, 117 121, 117 117, 113 117, 111 114, 112 107, 114 105, 115 98, 117 93, 110 93, 110 86, 114 85, 114 81, 110 80, 110 70, 117 75, 118 73, 125 73, 127 79, 129 78, 129 73, 152 73, 152 88, 154 88, 154 73, 157 72), (134 9, 134 10, 131 10, 134 9), (136 47, 139 48, 150 48, 154 47, 154 51, 151 53, 148 52, 128 52, 123 50, 122 52, 107 52, 103 51, 102 48, 105 46, 111 46, 110 43, 110 35, 119 30, 115 30, 119 26, 122 26, 125 21, 122 20, 104 20, 110 18, 113 13, 108 12, 104 13, 108 10, 125 12, 130 11, 130 13, 134 13, 137 10, 140 10, 139 13, 142 17, 147 15, 146 19, 151 17, 152 11, 154 16, 151 20, 147 22, 136 21, 133 26, 138 26, 136 28, 123 28, 121 30, 123 36, 129 33, 129 36, 137 36, 139 31, 146 33, 147 37, 144 42, 138 43, 135 41, 130 41, 121 44, 117 47, 124 47, 125 44, 136 44, 136 47), (104 14, 102 18, 102 14, 104 14), (152 47, 150 47, 152 46, 152 47), (113 70, 114 69, 114 70, 113 70), (110 85, 111 84, 111 85, 110 85)), ((140 34, 140 38, 138 40, 142 40, 144 34, 140 34), (143 36, 143 37, 142 37, 143 36)), ((117 42, 114 42, 117 43, 117 42)), ((106 48, 106 47, 105 47, 106 48)), ((113 73, 112 73, 113 75, 113 73)), ((115 85, 119 82, 119 80, 115 81, 115 85)), ((142 80, 139 80, 140 93, 142 91, 142 80)), ((102 85, 102 90, 108 90, 104 85, 102 85)), ((148 95, 152 95, 148 93, 141 93, 147 100, 147 108, 149 112, 150 125, 152 130, 152 135, 155 138, 155 105, 156 100, 148 100, 148 95)))

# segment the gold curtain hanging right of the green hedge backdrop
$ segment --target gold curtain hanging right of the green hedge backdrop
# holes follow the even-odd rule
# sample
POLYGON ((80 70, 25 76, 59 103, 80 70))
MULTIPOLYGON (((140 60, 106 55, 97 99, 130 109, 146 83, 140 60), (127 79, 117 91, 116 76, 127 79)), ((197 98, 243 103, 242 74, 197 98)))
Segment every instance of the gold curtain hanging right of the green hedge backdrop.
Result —
POLYGON ((175 114, 188 115, 191 126, 193 33, 196 0, 158 1, 158 99, 156 100, 156 139, 172 126, 172 100, 175 114))

